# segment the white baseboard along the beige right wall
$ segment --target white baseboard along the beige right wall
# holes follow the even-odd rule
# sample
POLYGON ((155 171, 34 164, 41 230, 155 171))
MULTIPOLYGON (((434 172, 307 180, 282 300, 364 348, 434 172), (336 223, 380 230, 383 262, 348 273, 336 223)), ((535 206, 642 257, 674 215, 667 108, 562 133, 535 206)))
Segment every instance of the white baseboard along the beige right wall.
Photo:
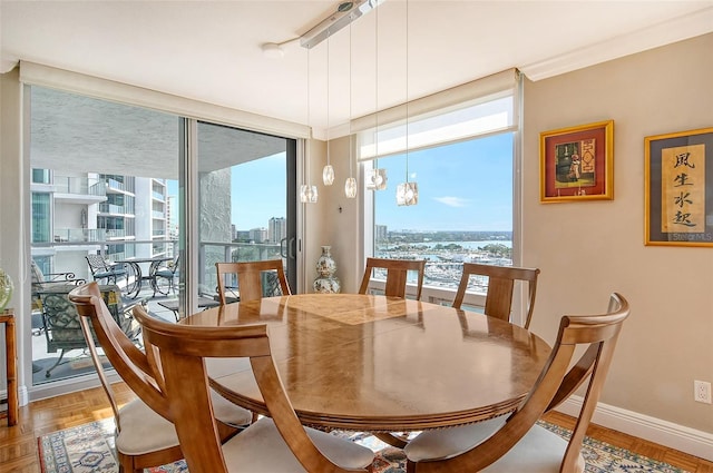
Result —
MULTIPOLYGON (((557 411, 577 416, 582 401, 580 396, 572 396, 557 411)), ((603 403, 597 405, 592 422, 713 462, 713 434, 709 432, 603 403)))

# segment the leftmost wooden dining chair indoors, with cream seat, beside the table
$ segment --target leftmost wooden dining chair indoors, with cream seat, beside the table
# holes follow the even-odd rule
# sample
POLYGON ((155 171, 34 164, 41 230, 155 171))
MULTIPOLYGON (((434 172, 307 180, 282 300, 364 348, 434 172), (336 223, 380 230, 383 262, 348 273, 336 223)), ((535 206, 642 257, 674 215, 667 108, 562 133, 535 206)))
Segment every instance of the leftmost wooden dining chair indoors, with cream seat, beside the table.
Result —
MULTIPOLYGON (((163 395, 163 386, 153 377, 146 354, 126 336, 111 317, 97 283, 75 288, 69 298, 80 315, 81 331, 111 405, 117 431, 115 445, 123 471, 138 473, 147 467, 183 459, 176 427, 168 421, 170 406, 163 395), (99 346, 92 333, 96 334, 106 359, 137 395, 136 400, 121 407, 118 406, 114 388, 108 382, 99 346)), ((144 311, 140 304, 136 307, 144 311)), ((212 392, 211 395, 214 400, 215 416, 219 420, 221 440, 232 437, 252 421, 253 414, 250 411, 229 403, 217 393, 212 392)))

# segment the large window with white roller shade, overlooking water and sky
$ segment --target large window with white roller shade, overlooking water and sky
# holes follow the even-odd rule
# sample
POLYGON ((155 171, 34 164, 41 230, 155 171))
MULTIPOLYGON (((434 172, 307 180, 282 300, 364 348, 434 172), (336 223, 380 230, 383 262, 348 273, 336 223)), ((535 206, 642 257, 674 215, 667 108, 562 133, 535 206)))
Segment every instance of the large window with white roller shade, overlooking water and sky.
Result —
POLYGON ((388 176, 387 189, 368 190, 367 250, 426 259, 424 297, 448 299, 443 292, 458 287, 463 262, 512 265, 516 117, 508 88, 360 132, 364 180, 374 168, 388 176), (399 206, 395 189, 407 179, 418 184, 418 204, 399 206))

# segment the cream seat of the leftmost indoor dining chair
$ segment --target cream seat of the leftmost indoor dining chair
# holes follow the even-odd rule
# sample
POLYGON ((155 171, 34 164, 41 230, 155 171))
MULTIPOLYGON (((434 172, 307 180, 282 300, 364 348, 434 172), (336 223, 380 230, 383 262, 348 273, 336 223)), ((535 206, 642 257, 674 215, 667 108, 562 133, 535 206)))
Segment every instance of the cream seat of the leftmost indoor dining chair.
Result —
MULTIPOLYGON (((229 425, 247 425, 253 414, 215 392, 211 392, 214 415, 229 425)), ((126 455, 140 455, 178 445, 174 424, 158 415, 137 398, 119 410, 121 430, 116 437, 117 451, 126 455)))

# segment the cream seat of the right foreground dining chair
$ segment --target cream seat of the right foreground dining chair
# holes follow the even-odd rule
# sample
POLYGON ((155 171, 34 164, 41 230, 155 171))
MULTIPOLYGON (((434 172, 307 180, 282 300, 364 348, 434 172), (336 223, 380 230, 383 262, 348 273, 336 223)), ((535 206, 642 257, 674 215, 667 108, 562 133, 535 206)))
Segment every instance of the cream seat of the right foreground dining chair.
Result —
MULTIPOLYGON (((481 443, 504 424, 505 417, 497 417, 462 427, 427 431, 412 440, 403 451, 411 461, 452 457, 481 443)), ((558 473, 566 450, 566 440, 545 427, 535 425, 506 455, 481 471, 484 473, 558 473)), ((582 454, 579 465, 584 469, 582 454)))

